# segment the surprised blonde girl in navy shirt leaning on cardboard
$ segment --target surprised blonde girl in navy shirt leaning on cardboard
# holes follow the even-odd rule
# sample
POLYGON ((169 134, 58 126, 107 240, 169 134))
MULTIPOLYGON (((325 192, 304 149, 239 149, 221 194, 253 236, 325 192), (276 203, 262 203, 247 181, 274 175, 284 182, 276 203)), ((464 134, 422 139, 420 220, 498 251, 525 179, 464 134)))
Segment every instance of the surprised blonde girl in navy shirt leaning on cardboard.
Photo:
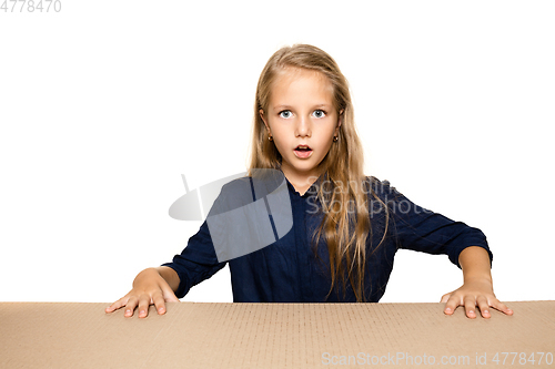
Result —
MULTIPOLYGON (((283 48, 262 71, 246 178, 258 168, 283 174, 291 230, 222 262, 204 222, 173 263, 141 271, 131 291, 107 312, 124 307, 130 317, 138 308, 143 318, 154 305, 164 314, 165 301, 179 301, 225 263, 235 303, 377 303, 395 252, 408 248, 446 254, 462 268, 464 285, 442 297, 445 314, 458 306, 468 318, 477 316, 476 309, 488 318, 491 307, 513 314, 493 293, 493 256, 480 229, 420 207, 387 182, 363 174, 347 82, 324 51, 306 44, 283 48)), ((242 180, 224 186, 219 199, 242 180)))

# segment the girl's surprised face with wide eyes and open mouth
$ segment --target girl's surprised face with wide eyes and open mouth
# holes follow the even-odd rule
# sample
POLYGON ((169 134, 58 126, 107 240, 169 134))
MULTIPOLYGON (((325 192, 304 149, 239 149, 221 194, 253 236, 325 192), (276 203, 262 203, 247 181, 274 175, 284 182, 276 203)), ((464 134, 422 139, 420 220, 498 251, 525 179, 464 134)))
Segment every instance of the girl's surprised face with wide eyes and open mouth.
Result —
POLYGON ((332 84, 316 71, 284 69, 273 81, 268 111, 260 115, 282 156, 283 174, 300 186, 316 168, 339 134, 332 84))

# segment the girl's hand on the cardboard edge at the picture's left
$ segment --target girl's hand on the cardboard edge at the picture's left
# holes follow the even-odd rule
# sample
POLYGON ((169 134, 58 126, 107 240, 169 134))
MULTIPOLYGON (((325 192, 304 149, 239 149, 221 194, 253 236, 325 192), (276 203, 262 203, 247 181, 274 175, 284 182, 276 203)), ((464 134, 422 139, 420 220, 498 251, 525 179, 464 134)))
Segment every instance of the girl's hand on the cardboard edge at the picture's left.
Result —
POLYGON ((150 305, 155 306, 159 315, 165 314, 167 301, 179 303, 179 299, 159 269, 148 268, 137 275, 133 289, 107 307, 105 312, 125 307, 124 316, 131 317, 138 307, 139 318, 145 318, 149 315, 150 305))

